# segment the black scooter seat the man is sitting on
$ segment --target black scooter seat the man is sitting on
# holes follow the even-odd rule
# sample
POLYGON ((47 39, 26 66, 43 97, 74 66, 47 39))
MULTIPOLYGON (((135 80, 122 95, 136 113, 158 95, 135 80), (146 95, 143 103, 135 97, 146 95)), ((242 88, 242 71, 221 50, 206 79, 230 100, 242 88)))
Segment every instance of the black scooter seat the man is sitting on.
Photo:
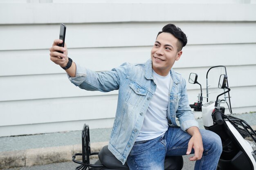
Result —
MULTIPOLYGON (((108 150, 108 146, 104 146, 99 152, 101 163, 109 169, 129 170, 127 163, 124 165, 108 150)), ((182 156, 165 157, 164 170, 181 170, 183 168, 182 156)), ((108 169, 108 170, 109 170, 108 169)))

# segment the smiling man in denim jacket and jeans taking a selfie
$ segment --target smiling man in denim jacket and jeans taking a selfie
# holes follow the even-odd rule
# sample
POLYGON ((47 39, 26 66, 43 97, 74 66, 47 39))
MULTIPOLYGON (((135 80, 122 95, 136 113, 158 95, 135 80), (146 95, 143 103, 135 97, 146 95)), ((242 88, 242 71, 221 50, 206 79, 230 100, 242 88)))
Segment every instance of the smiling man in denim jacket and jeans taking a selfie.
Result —
POLYGON ((50 59, 65 69, 73 84, 88 91, 119 90, 108 148, 130 170, 164 170, 165 156, 191 153, 195 155, 189 160, 196 161, 196 170, 216 170, 220 137, 199 130, 189 108, 186 82, 172 69, 187 42, 180 28, 164 26, 146 63, 124 63, 101 73, 72 62, 67 48, 57 46, 61 42, 54 40, 50 59))

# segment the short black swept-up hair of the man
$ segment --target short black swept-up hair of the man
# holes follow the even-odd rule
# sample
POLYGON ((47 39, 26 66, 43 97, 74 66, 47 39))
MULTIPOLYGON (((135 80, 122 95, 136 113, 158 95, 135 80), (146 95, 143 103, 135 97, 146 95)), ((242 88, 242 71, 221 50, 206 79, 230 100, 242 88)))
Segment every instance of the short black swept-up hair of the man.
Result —
POLYGON ((186 45, 186 43, 188 42, 187 38, 186 38, 186 34, 179 28, 176 27, 174 24, 167 24, 166 26, 163 27, 162 31, 160 31, 157 36, 160 33, 171 33, 175 38, 178 39, 177 42, 177 47, 178 47, 178 51, 182 50, 182 47, 184 47, 186 45))

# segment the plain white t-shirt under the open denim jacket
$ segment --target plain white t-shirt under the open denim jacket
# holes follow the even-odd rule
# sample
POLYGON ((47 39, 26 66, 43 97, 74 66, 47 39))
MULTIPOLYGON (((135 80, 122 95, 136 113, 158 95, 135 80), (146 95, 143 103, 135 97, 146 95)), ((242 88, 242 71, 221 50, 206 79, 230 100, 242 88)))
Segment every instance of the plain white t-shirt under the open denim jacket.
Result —
POLYGON ((172 83, 170 72, 161 76, 153 71, 154 82, 157 85, 136 141, 155 139, 168 130, 167 109, 169 104, 169 89, 172 83))

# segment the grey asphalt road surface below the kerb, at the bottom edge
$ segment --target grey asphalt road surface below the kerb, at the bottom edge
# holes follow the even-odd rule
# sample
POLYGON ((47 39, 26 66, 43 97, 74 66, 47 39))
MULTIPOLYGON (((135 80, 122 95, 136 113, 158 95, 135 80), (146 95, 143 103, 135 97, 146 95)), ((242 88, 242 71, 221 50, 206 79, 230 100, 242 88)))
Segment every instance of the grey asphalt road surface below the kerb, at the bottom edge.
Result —
MULTIPOLYGON (((184 166, 182 170, 193 170, 195 162, 189 161, 189 156, 183 156, 184 166)), ((90 162, 94 162, 96 160, 90 160, 90 162)), ((10 168, 10 169, 2 169, 2 170, 75 170, 75 168, 79 166, 74 162, 61 162, 61 163, 51 163, 47 165, 40 166, 30 166, 30 167, 20 167, 20 168, 10 168)))

